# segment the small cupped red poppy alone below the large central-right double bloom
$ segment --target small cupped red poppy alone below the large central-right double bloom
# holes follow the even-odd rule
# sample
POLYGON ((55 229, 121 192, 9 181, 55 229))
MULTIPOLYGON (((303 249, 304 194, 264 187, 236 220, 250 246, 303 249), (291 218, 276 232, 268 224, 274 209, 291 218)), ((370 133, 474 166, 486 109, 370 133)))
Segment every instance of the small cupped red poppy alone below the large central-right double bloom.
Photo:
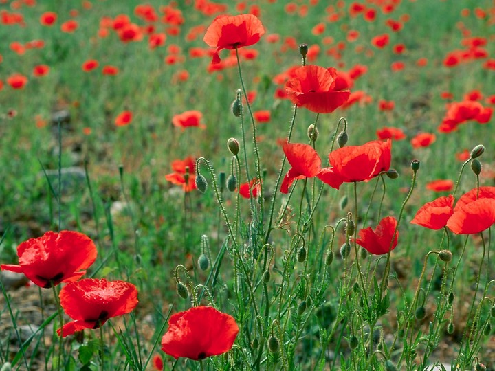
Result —
POLYGON ((397 246, 399 231, 397 220, 393 216, 387 216, 378 223, 375 230, 371 227, 361 229, 356 243, 371 254, 382 255, 392 251, 397 246), (393 235, 395 231, 395 236, 393 235))

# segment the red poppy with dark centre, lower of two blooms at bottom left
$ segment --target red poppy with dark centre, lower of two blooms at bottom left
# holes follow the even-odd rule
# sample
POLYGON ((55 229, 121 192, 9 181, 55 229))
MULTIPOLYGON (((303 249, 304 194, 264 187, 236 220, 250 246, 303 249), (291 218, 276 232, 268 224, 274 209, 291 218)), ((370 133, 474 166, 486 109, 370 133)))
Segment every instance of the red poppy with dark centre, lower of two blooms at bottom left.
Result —
POLYGON ((100 328, 108 319, 131 313, 137 305, 137 289, 124 281, 85 278, 63 286, 61 306, 74 321, 57 330, 66 337, 85 328, 100 328))

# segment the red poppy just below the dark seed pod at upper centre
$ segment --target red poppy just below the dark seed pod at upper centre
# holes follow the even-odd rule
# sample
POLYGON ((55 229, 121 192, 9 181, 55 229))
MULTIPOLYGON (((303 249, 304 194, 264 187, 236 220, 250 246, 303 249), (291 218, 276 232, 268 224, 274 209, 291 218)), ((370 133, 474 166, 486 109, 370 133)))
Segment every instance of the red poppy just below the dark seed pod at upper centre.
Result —
POLYGON ((349 99, 350 91, 334 68, 307 65, 295 69, 294 75, 285 83, 287 96, 309 111, 330 113, 349 99))

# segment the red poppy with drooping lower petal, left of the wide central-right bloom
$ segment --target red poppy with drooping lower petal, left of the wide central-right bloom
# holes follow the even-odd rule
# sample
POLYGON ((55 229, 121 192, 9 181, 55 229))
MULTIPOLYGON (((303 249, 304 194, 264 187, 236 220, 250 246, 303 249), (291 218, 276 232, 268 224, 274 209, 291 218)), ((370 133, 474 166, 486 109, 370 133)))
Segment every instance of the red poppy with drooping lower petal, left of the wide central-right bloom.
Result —
POLYGON ((316 177, 321 169, 321 159, 313 147, 302 143, 286 143, 283 151, 292 165, 285 175, 281 192, 289 193, 289 187, 296 179, 316 177))

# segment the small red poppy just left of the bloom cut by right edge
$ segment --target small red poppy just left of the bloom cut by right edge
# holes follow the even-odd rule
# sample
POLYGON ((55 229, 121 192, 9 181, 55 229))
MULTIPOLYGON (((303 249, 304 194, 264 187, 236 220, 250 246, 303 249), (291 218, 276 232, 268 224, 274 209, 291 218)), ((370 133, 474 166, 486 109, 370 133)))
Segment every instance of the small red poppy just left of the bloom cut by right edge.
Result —
POLYGON ((431 202, 425 203, 416 213, 416 216, 410 221, 411 224, 421 225, 429 229, 438 230, 445 225, 454 213, 454 196, 439 197, 431 202))

